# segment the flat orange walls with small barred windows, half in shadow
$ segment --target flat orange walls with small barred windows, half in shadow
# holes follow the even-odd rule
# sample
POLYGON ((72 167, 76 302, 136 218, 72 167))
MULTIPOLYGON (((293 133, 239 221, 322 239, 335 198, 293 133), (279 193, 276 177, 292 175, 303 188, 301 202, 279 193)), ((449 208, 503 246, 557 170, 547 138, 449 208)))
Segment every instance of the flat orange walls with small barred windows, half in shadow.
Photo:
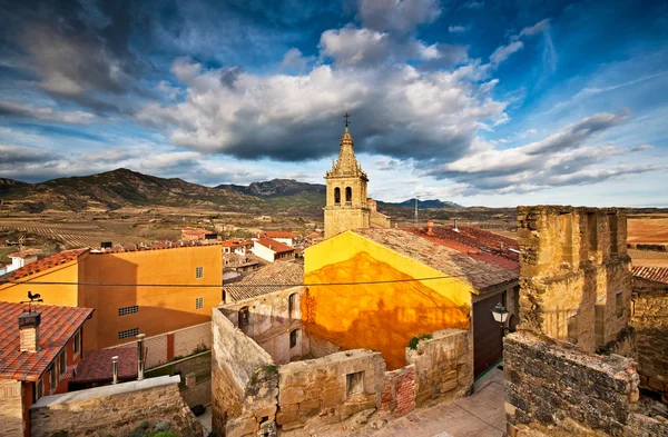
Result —
POLYGON ((118 332, 138 328, 147 337, 210 320, 210 308, 222 300, 223 261, 219 245, 118 254, 90 254, 82 266, 84 282, 139 285, 214 285, 215 287, 81 286, 80 306, 96 308, 87 325, 86 349, 134 341, 118 332), (196 278, 195 268, 204 268, 196 278), (204 306, 196 309, 195 299, 204 306), (119 316, 122 307, 137 314, 119 316))

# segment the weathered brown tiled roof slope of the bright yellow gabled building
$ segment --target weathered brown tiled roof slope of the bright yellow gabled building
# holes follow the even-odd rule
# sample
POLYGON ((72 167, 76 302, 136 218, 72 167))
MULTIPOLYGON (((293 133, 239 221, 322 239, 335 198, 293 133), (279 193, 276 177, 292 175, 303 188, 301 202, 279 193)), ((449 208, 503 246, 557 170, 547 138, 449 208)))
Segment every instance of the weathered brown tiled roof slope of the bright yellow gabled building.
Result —
POLYGON ((353 232, 369 238, 391 250, 420 261, 445 276, 469 282, 479 291, 518 280, 518 272, 492 262, 487 257, 455 250, 442 241, 423 238, 405 229, 355 229, 353 232))

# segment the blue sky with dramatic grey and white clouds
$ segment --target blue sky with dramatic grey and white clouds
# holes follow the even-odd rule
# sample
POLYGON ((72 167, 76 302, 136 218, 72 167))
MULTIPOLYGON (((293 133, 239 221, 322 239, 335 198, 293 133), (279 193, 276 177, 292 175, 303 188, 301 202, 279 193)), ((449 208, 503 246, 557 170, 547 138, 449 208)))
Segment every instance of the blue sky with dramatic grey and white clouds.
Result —
POLYGON ((0 177, 668 207, 668 2, 0 0, 0 177))

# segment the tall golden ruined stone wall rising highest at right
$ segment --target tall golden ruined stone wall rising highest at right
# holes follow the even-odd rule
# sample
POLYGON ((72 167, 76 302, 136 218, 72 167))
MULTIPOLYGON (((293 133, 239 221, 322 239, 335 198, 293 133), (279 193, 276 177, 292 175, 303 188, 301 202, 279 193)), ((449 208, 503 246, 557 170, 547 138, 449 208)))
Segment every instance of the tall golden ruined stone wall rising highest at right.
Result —
POLYGON ((630 320, 626 237, 621 210, 519 207, 521 327, 610 348, 630 320))

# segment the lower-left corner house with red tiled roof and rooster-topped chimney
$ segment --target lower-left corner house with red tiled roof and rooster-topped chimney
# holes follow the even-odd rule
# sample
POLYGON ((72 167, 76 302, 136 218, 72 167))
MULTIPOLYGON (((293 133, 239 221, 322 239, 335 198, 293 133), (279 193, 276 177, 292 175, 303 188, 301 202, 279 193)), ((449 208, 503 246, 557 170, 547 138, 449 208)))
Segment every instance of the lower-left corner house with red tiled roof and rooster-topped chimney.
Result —
POLYGON ((92 308, 0 301, 0 436, 29 437, 30 406, 68 391, 92 314, 92 308))

